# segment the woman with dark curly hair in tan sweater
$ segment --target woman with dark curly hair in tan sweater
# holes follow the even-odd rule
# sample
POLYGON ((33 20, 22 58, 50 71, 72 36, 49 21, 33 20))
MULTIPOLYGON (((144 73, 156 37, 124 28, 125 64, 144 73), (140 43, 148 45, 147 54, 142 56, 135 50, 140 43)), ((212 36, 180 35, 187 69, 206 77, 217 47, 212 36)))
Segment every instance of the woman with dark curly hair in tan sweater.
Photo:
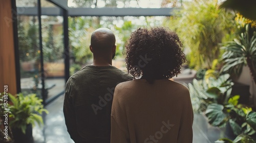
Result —
POLYGON ((193 141, 188 88, 169 80, 186 61, 178 35, 139 28, 127 41, 126 67, 136 80, 119 83, 111 112, 112 143, 193 141))

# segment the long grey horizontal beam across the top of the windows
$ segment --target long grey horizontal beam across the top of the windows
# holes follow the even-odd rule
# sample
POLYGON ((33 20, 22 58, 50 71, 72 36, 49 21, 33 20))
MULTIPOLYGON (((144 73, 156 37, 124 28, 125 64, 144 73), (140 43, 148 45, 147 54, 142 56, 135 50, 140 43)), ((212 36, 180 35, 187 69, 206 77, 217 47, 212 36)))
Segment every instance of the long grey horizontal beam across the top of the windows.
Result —
MULTIPOLYGON (((175 8, 69 8, 69 16, 170 16, 175 8)), ((42 8, 42 15, 62 15, 59 8, 42 8)), ((18 15, 37 15, 37 8, 17 7, 18 15)))

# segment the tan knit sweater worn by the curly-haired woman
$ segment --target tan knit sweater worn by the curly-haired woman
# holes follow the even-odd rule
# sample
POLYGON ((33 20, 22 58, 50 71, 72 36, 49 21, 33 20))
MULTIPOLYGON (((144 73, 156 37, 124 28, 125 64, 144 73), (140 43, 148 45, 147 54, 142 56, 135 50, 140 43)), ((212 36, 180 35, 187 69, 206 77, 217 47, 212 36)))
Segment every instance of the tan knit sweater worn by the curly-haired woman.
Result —
POLYGON ((193 141, 188 88, 170 80, 134 80, 116 86, 111 113, 112 143, 193 141))

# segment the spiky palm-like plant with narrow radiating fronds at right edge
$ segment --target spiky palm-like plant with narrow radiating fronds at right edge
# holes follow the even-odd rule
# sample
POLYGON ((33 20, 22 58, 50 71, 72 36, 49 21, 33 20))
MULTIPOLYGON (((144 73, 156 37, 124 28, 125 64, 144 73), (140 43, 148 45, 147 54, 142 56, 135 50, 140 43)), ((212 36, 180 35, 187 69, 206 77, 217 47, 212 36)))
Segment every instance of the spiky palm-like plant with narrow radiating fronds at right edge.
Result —
POLYGON ((223 71, 240 75, 244 65, 248 65, 254 83, 256 83, 256 31, 249 35, 249 25, 246 32, 241 33, 238 39, 224 43, 222 55, 223 71))

